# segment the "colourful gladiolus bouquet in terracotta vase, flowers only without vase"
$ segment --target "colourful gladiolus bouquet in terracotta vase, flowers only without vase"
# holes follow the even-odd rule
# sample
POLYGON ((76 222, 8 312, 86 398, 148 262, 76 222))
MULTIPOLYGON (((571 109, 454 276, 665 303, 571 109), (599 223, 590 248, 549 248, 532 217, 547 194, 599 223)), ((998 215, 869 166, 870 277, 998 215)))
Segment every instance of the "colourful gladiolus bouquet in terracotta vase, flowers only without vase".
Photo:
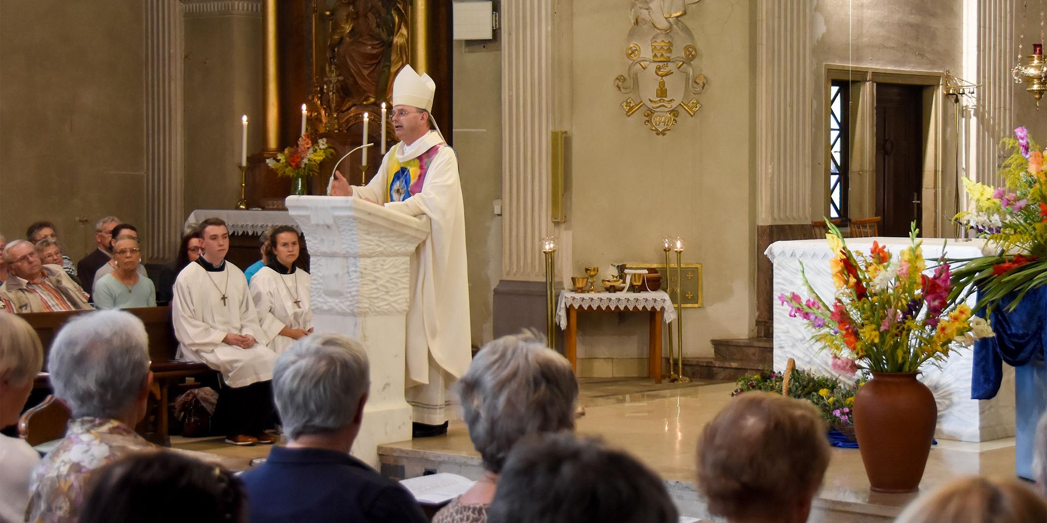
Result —
POLYGON ((812 298, 792 293, 779 299, 789 308, 789 316, 803 318, 815 329, 812 338, 832 353, 833 369, 912 373, 929 361, 940 364, 955 345, 993 336, 988 323, 970 306, 946 301, 952 289, 949 264, 942 262, 931 276, 923 274, 915 224, 912 245, 897 258, 876 242, 868 254, 852 252, 840 229, 826 224, 834 296, 822 299, 801 266, 812 298))

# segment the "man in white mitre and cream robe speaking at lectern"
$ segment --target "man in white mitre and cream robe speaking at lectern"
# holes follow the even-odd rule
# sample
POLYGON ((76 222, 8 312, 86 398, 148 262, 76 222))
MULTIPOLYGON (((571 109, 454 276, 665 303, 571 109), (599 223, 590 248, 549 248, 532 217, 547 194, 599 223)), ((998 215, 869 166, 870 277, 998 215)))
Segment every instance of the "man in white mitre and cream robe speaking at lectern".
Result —
POLYGON ((462 185, 458 156, 429 114, 436 88, 428 74, 404 66, 393 84, 391 115, 400 142, 366 185, 350 186, 340 173, 331 185, 332 196, 362 198, 429 220, 431 233, 411 256, 407 310, 405 395, 414 407, 416 437, 447 431, 448 389, 472 354, 462 185))

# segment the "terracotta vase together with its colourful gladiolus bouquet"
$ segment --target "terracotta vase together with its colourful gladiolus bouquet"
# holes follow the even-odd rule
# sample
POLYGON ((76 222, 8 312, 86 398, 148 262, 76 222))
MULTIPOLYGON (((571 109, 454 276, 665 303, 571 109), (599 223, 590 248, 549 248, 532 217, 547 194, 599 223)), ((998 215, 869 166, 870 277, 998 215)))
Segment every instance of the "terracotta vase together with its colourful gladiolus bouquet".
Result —
POLYGON ((959 344, 993 332, 965 303, 946 302, 948 264, 925 274, 915 224, 911 246, 897 257, 876 242, 868 254, 852 252, 840 229, 826 224, 836 294, 823 299, 804 274, 811 298, 792 293, 779 299, 816 332, 814 339, 831 351, 836 370, 872 376, 855 393, 852 416, 869 484, 877 492, 913 492, 923 476, 938 414, 934 395, 916 376, 922 365, 941 364, 959 344))

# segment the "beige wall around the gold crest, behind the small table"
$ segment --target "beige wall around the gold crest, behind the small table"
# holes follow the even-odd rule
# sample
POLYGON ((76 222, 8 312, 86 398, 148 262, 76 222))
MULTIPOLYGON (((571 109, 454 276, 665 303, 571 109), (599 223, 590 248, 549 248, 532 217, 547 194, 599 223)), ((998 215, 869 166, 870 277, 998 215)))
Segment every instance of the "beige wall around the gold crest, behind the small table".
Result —
MULTIPOLYGON (((697 114, 682 111, 666 136, 646 128, 642 112, 626 117, 614 87, 628 64, 628 2, 575 0, 573 20, 570 271, 659 263, 662 236, 683 236, 684 262, 704 264, 706 303, 684 311, 685 356, 711 356, 710 339, 747 337, 755 319, 751 6, 688 7, 683 21, 709 84, 697 114)), ((578 356, 646 357, 646 321, 580 315, 578 356)))

